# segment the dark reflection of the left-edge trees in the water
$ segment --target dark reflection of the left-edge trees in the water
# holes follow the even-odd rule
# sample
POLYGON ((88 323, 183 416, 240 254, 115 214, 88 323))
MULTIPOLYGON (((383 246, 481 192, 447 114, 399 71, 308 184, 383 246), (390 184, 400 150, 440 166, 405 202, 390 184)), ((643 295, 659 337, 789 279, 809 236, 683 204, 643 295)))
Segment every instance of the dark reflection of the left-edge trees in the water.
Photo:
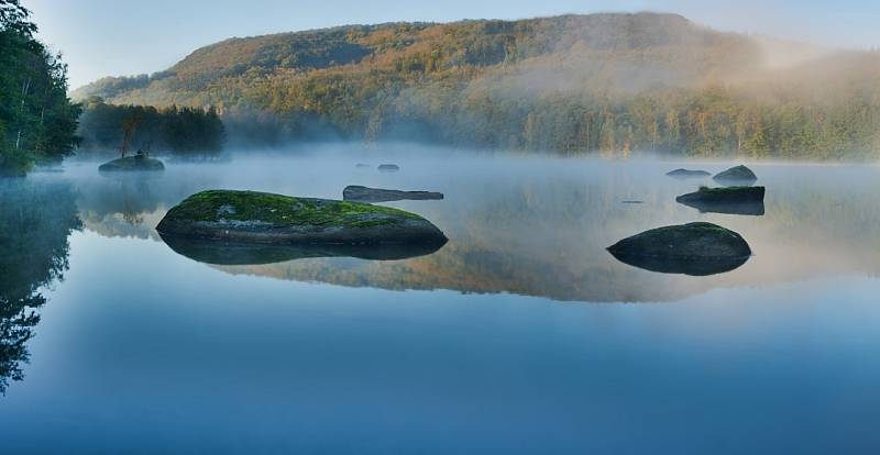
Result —
POLYGON ((68 185, 0 179, 0 392, 23 378, 28 341, 46 303, 41 288, 63 279, 70 231, 81 226, 68 185))

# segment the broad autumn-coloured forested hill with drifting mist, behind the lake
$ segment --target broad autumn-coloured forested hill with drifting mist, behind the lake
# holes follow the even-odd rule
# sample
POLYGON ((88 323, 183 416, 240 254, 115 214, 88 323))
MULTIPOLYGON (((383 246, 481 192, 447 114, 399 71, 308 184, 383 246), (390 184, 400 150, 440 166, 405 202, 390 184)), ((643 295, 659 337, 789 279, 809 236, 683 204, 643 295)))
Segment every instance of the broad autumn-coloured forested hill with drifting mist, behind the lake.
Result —
POLYGON ((231 38, 74 96, 211 106, 233 140, 837 159, 880 148, 878 81, 873 52, 608 13, 231 38))

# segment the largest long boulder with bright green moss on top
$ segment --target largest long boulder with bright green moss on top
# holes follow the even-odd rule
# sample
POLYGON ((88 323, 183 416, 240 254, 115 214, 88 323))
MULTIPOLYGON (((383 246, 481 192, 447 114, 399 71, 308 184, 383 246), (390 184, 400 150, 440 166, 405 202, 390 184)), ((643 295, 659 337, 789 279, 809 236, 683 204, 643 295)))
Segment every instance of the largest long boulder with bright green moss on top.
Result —
POLYGON ((163 235, 268 244, 444 244, 424 218, 388 207, 256 191, 208 190, 172 208, 163 235))

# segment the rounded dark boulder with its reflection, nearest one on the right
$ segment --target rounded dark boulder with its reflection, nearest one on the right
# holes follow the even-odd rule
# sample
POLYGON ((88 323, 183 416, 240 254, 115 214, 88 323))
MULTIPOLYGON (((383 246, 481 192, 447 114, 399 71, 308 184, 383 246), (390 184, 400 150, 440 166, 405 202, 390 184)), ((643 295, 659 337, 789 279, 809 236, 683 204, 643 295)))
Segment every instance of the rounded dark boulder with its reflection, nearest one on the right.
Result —
POLYGON ((712 223, 653 229, 617 242, 608 252, 646 270, 694 276, 733 270, 751 256, 739 234, 712 223))

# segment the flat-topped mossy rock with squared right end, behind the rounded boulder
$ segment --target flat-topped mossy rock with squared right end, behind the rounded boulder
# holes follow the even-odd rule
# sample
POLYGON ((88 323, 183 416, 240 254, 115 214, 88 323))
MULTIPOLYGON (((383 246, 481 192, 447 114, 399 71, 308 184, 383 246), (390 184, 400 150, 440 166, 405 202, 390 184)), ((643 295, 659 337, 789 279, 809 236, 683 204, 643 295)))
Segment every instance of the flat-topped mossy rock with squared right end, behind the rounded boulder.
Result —
POLYGON ((762 215, 765 187, 701 187, 698 191, 682 195, 675 201, 701 212, 762 215))

